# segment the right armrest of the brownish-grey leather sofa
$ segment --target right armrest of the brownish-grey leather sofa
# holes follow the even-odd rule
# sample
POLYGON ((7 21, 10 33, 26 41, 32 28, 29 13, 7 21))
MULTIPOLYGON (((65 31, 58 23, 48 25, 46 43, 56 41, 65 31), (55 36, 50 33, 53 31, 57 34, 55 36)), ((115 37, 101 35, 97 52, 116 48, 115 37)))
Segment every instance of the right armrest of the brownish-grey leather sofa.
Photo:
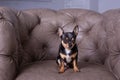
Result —
POLYGON ((106 65, 120 80, 120 9, 111 9, 103 13, 106 20, 107 46, 109 56, 106 65))

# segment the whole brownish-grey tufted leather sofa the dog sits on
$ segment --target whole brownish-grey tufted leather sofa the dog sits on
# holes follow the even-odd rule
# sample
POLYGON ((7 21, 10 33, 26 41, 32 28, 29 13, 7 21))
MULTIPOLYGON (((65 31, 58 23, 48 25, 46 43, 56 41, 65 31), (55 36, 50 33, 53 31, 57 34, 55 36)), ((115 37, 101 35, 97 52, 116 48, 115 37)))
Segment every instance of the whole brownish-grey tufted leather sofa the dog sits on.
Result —
POLYGON ((0 7, 0 80, 119 80, 120 32, 119 23, 114 30, 111 26, 117 21, 112 15, 119 21, 114 13, 86 9, 0 7), (80 29, 76 40, 80 72, 68 69, 59 74, 58 28, 68 32, 75 25, 80 29))

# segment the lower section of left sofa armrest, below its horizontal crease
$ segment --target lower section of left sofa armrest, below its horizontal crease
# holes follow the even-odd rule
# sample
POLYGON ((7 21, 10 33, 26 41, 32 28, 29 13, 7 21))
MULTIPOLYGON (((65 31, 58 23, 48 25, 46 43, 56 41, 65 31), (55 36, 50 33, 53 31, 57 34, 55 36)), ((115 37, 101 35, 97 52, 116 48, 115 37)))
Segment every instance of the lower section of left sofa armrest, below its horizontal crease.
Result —
POLYGON ((0 80, 14 80, 16 67, 14 60, 6 55, 0 55, 0 80))

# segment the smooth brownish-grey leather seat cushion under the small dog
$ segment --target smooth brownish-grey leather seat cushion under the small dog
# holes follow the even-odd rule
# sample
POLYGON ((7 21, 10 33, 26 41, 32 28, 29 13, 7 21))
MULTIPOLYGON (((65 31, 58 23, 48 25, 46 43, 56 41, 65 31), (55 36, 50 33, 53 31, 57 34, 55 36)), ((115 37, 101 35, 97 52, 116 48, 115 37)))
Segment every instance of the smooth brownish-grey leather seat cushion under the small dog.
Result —
POLYGON ((55 60, 34 62, 26 65, 16 80, 116 80, 103 65, 81 62, 79 66, 81 72, 67 69, 59 74, 55 60))

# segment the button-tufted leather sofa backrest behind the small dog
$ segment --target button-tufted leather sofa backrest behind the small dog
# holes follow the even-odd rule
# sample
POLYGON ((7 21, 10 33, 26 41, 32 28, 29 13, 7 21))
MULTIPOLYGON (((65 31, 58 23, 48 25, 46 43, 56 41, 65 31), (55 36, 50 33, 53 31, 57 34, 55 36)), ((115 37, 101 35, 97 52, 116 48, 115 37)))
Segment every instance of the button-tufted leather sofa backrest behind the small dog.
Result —
POLYGON ((16 24, 19 62, 56 59, 60 44, 58 28, 68 32, 75 25, 79 26, 76 43, 80 61, 104 62, 108 55, 104 17, 97 12, 85 9, 13 11, 15 16, 10 19, 16 24))

